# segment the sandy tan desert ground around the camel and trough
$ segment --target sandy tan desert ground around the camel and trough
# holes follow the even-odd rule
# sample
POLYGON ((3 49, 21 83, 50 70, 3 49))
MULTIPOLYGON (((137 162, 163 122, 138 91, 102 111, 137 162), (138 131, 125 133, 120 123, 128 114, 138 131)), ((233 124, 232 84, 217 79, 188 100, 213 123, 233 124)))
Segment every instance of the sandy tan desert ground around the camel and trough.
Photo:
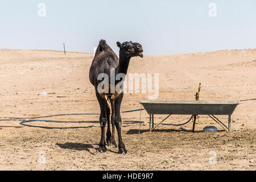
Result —
MULTIPOLYGON (((92 53, 0 49, 0 119, 52 114, 100 113, 89 82, 92 53), (48 93, 48 94, 46 94, 48 93)), ((176 55, 133 57, 128 73, 159 73, 158 100, 229 101, 256 98, 256 49, 233 49, 176 55)), ((121 111, 141 109, 151 93, 126 93, 121 111)), ((98 123, 46 123, 38 126, 94 126, 81 129, 42 129, 0 121, 0 170, 255 170, 256 102, 241 102, 232 114, 230 132, 200 116, 192 122, 159 125, 148 131, 145 110, 122 113, 123 121, 144 121, 122 127, 129 154, 118 148, 97 152, 98 123), (217 133, 202 132, 216 126, 217 133), (43 156, 42 156, 43 155, 43 156), (45 158, 42 158, 44 157, 45 158), (45 159, 45 160, 44 160, 45 159)), ((155 115, 159 123, 166 115, 155 115)), ((173 115, 164 123, 184 122, 189 115, 173 115)), ((228 117, 218 118, 225 124, 228 117)), ((98 121, 98 115, 67 115, 56 121, 98 121)), ((115 140, 117 134, 115 134, 115 140)))

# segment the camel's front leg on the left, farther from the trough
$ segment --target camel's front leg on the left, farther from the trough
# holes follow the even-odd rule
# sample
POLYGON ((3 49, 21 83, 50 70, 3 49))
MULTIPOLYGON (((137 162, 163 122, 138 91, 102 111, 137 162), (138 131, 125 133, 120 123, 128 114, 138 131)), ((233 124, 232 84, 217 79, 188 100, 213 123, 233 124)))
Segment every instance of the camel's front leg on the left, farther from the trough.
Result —
POLYGON ((107 116, 106 116, 106 110, 105 110, 106 100, 105 100, 105 98, 102 98, 100 96, 100 94, 97 92, 97 90, 96 90, 96 96, 97 96, 98 103, 100 104, 100 108, 101 108, 101 115, 100 115, 101 140, 99 143, 100 147, 98 148, 98 151, 105 152, 107 150, 106 142, 105 142, 105 126, 106 126, 106 122, 108 121, 107 116))

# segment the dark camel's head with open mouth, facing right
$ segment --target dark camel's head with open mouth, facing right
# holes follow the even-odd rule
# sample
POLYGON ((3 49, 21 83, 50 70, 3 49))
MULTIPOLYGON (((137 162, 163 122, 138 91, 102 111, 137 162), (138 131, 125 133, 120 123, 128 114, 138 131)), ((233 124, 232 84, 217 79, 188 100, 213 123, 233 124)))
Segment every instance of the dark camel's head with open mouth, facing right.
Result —
POLYGON ((122 55, 125 55, 126 57, 143 57, 143 49, 139 43, 133 43, 130 41, 121 44, 120 42, 117 42, 117 47, 120 48, 120 54, 122 53, 122 55))

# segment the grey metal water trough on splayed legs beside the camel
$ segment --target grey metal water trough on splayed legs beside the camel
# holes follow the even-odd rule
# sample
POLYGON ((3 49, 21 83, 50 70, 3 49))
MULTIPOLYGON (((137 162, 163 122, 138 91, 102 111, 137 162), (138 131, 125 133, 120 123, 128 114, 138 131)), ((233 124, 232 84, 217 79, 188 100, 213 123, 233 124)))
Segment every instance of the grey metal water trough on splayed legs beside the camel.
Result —
MULTIPOLYGON (((230 131, 231 115, 240 101, 141 101, 148 114, 150 114, 150 131, 154 129, 154 114, 192 114, 209 115, 225 130, 230 131), (226 127, 214 115, 229 115, 229 126, 226 127), (152 124, 152 125, 151 125, 152 124)), ((164 119, 165 120, 165 119, 164 119)), ((163 120, 163 121, 164 121, 163 120)), ((162 121, 162 122, 163 122, 162 121)), ((162 123, 161 122, 161 123, 162 123)), ((195 122, 195 121, 194 121, 195 122)), ((193 127, 194 130, 194 127, 193 127)))

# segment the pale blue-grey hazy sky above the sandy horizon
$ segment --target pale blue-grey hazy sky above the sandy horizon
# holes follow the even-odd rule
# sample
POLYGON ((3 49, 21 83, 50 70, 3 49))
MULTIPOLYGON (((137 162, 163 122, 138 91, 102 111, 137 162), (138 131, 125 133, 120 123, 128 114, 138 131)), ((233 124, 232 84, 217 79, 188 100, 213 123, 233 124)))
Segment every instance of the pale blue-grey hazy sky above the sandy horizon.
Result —
POLYGON ((0 22, 0 48, 63 50, 65 42, 92 53, 100 39, 116 53, 117 41, 138 42, 144 55, 256 48, 255 0, 1 0, 0 22))

